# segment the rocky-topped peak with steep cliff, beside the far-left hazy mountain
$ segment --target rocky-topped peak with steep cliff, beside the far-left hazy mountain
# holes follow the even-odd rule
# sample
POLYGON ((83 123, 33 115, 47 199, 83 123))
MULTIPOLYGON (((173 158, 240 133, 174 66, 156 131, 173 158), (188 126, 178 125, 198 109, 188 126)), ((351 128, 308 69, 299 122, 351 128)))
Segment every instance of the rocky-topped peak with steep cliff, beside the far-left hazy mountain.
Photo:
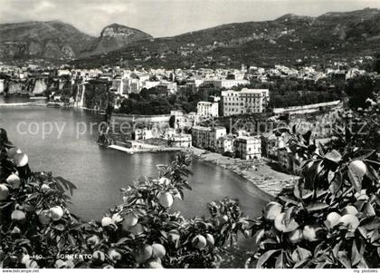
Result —
POLYGON ((152 38, 138 29, 130 28, 121 24, 110 24, 103 28, 100 37, 91 44, 90 48, 82 55, 105 54, 110 51, 118 50, 133 42, 152 38))

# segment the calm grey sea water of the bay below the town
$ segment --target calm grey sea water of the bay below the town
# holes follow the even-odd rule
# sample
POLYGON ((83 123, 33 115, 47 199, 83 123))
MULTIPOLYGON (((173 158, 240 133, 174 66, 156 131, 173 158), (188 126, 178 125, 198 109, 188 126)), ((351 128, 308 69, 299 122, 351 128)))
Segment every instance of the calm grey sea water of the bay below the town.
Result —
MULTIPOLYGON (((72 198, 71 210, 84 219, 100 219, 109 207, 121 203, 120 188, 141 175, 156 176, 157 164, 167 163, 173 155, 128 155, 107 150, 96 144, 96 133, 87 132, 77 138, 78 123, 100 121, 99 115, 81 110, 0 106, 0 127, 5 128, 10 140, 28 154, 32 169, 52 171, 53 175, 71 180, 78 187, 72 198), (57 124, 60 128, 65 124, 62 136, 58 137, 59 132, 54 129, 43 138, 43 122, 52 122, 53 126, 57 124), (33 132, 24 133, 31 123, 33 132), (40 131, 36 131, 34 123, 39 124, 40 131), (17 132, 18 124, 21 132, 17 132)), ((193 190, 186 191, 185 200, 176 201, 174 207, 187 217, 206 214, 207 202, 225 196, 239 199, 242 210, 255 217, 267 200, 261 190, 232 171, 204 161, 193 161, 191 170, 194 174, 189 181, 193 190)))

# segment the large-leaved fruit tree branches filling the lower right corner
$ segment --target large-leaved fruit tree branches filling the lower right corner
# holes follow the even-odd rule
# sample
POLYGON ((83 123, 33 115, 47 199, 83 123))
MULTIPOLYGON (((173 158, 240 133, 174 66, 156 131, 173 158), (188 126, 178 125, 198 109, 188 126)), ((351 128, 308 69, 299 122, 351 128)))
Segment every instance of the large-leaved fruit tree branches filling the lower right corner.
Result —
POLYGON ((292 132, 300 179, 253 221, 259 248, 246 267, 380 267, 380 147, 373 132, 378 119, 373 105, 358 120, 366 122, 366 135, 346 128, 329 147, 310 141, 311 132, 292 132))

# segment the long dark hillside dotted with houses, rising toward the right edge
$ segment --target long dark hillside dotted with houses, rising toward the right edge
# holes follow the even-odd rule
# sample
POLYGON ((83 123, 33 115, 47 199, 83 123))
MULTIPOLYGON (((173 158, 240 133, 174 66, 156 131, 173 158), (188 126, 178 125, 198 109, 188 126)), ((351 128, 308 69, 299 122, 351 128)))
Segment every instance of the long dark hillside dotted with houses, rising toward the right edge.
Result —
POLYGON ((272 65, 322 63, 333 58, 371 55, 379 50, 380 10, 328 13, 318 17, 283 15, 273 21, 223 24, 214 28, 128 44, 73 64, 194 67, 241 63, 272 65))

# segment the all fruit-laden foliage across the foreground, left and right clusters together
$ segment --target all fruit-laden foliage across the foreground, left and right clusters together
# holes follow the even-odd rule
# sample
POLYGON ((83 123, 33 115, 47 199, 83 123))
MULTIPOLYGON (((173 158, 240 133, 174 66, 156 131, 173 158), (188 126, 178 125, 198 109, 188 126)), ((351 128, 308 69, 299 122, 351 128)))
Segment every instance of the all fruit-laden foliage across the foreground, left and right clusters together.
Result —
POLYGON ((246 267, 378 268, 379 101, 343 115, 366 122, 366 135, 354 124, 354 130, 338 130, 337 139, 324 147, 310 141, 311 132, 292 130, 290 149, 302 164, 301 177, 251 227, 230 199, 210 203, 207 219, 185 219, 170 210, 174 199, 183 200, 184 190, 191 190, 183 154, 158 166, 158 179, 123 189, 124 202, 100 221, 83 222, 67 209, 66 192, 75 186, 50 173, 30 172, 24 155, 5 149, 0 138, 1 265, 217 268, 223 247, 251 229, 258 248, 246 267))

